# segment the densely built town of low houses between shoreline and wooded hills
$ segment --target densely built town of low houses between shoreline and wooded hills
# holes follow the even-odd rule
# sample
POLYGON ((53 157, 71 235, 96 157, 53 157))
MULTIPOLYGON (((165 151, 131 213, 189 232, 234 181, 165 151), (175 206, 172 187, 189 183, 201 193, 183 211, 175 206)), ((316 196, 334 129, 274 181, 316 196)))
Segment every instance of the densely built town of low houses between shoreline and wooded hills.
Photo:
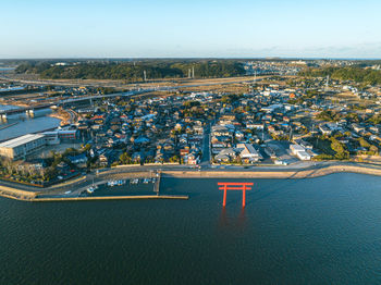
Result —
POLYGON ((195 85, 189 69, 190 84, 149 82, 144 73, 140 83, 124 89, 25 85, 4 75, 1 103, 12 108, 1 113, 2 128, 12 126, 13 112, 33 117, 39 108, 62 121, 2 139, 1 177, 47 186, 121 165, 202 171, 381 162, 380 84, 308 74, 355 62, 242 64, 245 74, 233 82, 195 85))

